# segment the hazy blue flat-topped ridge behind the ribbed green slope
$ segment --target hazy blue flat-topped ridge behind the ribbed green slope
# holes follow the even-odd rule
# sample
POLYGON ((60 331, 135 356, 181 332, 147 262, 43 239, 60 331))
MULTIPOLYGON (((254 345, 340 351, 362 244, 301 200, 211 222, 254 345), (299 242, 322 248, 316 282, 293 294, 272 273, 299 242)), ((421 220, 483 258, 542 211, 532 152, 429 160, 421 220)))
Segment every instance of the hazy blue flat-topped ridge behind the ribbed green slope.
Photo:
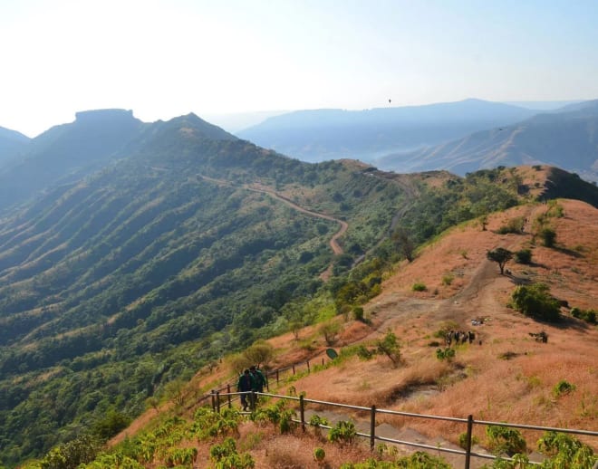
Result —
POLYGON ((195 114, 151 124, 133 117, 131 110, 87 110, 75 116, 74 122, 25 141, 20 147, 21 157, 0 168, 0 211, 48 187, 80 180, 130 156, 149 140, 159 140, 172 126, 196 139, 236 139, 195 114))

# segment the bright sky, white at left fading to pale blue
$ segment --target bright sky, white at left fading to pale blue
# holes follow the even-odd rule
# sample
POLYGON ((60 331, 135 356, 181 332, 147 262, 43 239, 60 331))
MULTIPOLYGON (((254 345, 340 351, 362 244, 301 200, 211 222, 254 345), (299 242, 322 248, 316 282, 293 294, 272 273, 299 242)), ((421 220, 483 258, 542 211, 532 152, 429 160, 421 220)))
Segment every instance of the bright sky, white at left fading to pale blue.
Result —
POLYGON ((0 0, 0 127, 597 99, 597 24, 596 0, 0 0))

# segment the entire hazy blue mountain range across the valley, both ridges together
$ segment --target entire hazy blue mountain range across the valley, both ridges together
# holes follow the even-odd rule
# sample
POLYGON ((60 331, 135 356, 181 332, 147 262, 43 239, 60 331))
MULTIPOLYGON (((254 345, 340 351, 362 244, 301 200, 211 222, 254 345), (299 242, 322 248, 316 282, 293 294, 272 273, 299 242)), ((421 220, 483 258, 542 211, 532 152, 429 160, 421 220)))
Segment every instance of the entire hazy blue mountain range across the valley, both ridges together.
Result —
POLYGON ((238 132, 305 161, 354 158, 387 171, 549 164, 598 180, 596 101, 530 110, 466 100, 427 106, 302 110, 238 132))

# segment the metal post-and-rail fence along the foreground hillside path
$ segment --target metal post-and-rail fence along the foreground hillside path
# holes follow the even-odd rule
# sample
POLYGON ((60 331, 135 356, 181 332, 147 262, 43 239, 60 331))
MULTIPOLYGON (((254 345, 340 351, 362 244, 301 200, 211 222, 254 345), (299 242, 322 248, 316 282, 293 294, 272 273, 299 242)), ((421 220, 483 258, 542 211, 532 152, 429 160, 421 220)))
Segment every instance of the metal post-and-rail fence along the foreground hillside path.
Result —
MULTIPOLYGON (((322 359, 322 364, 323 364, 322 359)), ((598 445, 598 431, 589 431, 583 429, 560 428, 552 426, 529 426, 524 424, 507 423, 507 422, 492 422, 487 420, 476 420, 473 416, 468 418, 458 418, 450 416, 432 416, 424 414, 413 414, 410 412, 400 412, 391 409, 379 409, 376 406, 360 407, 352 406, 350 404, 343 404, 338 402, 327 402, 322 400, 308 399, 306 397, 283 396, 269 392, 269 383, 276 381, 277 387, 281 382, 285 382, 285 377, 293 377, 298 370, 303 370, 309 373, 311 371, 310 361, 296 363, 285 369, 276 369, 266 374, 268 380, 268 392, 265 393, 248 393, 251 395, 250 402, 254 403, 255 409, 256 396, 272 397, 275 399, 286 399, 295 401, 297 407, 298 418, 294 422, 300 425, 305 431, 306 426, 309 426, 311 416, 318 415, 324 417, 330 423, 329 426, 321 426, 324 429, 330 429, 341 420, 351 420, 357 429, 357 436, 365 438, 369 441, 371 450, 375 449, 376 442, 378 444, 397 445, 407 452, 412 451, 426 451, 433 455, 441 455, 453 467, 464 467, 465 469, 479 469, 484 464, 488 464, 489 460, 497 459, 496 455, 491 455, 485 448, 480 445, 474 445, 472 436, 474 426, 504 426, 508 428, 518 428, 527 430, 536 430, 538 432, 554 431, 559 433, 566 433, 579 436, 589 436, 598 445), (408 418, 423 418, 429 420, 445 420, 458 423, 463 426, 463 432, 458 434, 466 434, 466 449, 450 443, 441 436, 430 438, 429 436, 421 435, 419 432, 413 430, 409 426, 395 427, 387 423, 378 424, 378 416, 401 416, 408 418)), ((214 411, 219 412, 221 407, 232 407, 233 402, 239 398, 240 394, 236 392, 236 383, 227 383, 221 388, 212 390, 209 394, 201 397, 197 404, 204 405, 211 404, 214 411)), ((539 434, 538 437, 540 437, 539 434)), ((530 463, 541 464, 544 456, 538 453, 531 453, 528 455, 530 463)), ((508 460, 506 456, 503 459, 508 460)))

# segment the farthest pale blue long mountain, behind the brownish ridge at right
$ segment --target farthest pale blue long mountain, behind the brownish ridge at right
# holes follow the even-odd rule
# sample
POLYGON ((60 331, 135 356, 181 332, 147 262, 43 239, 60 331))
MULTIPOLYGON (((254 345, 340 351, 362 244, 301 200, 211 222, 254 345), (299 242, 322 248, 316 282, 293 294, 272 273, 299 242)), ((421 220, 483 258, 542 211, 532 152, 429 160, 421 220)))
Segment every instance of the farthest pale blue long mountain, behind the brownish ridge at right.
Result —
POLYGON ((267 119, 237 135, 304 161, 372 161, 396 151, 512 124, 535 113, 480 100, 372 110, 299 110, 267 119))

